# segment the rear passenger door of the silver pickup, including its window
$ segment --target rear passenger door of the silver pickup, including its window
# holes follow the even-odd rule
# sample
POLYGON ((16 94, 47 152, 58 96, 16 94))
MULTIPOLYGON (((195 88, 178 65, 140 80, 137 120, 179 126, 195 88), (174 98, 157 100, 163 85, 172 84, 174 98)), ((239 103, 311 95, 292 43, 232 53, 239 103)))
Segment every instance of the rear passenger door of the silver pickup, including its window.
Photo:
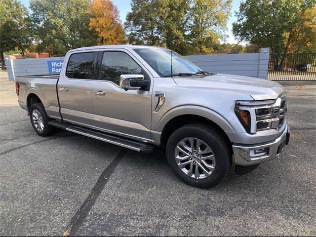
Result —
POLYGON ((57 85, 61 115, 67 122, 93 127, 91 84, 95 53, 75 52, 68 57, 67 68, 57 85))

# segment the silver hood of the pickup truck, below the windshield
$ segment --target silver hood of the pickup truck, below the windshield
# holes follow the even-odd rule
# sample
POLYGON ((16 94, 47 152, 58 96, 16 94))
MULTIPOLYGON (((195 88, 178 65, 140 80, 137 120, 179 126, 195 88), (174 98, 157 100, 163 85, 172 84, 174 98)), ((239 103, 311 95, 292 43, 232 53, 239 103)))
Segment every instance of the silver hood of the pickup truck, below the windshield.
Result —
POLYGON ((182 87, 247 94, 254 100, 276 99, 285 91, 284 87, 275 81, 226 74, 173 79, 182 87))

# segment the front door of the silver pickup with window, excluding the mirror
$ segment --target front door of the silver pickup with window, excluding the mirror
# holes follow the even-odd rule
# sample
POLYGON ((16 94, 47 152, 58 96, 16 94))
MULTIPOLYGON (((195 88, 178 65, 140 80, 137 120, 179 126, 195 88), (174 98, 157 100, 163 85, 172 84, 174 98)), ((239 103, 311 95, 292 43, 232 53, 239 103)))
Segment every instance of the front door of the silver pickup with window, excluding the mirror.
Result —
POLYGON ((119 87, 122 74, 149 72, 127 50, 99 52, 98 80, 93 80, 92 107, 94 125, 106 132, 142 141, 151 140, 152 90, 127 90, 119 87))

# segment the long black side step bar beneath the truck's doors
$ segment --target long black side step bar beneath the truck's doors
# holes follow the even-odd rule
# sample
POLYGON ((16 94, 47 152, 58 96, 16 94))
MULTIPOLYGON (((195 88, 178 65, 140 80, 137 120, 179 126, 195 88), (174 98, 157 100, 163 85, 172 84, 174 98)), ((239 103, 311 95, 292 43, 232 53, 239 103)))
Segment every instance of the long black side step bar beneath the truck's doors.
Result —
POLYGON ((48 124, 57 128, 65 129, 67 131, 75 132, 83 136, 95 138, 104 142, 125 147, 141 153, 151 153, 155 148, 155 146, 152 144, 122 138, 119 136, 115 136, 113 134, 108 134, 105 132, 100 132, 89 128, 79 127, 77 125, 62 121, 51 120, 48 122, 48 124))

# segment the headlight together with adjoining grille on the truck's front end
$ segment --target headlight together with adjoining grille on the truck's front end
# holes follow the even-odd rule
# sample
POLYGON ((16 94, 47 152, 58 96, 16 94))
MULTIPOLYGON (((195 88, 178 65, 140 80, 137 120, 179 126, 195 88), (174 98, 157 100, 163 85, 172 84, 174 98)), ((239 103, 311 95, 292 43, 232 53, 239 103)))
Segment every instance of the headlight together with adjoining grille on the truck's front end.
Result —
POLYGON ((286 95, 276 100, 237 101, 235 113, 248 133, 279 129, 285 121, 286 95))

